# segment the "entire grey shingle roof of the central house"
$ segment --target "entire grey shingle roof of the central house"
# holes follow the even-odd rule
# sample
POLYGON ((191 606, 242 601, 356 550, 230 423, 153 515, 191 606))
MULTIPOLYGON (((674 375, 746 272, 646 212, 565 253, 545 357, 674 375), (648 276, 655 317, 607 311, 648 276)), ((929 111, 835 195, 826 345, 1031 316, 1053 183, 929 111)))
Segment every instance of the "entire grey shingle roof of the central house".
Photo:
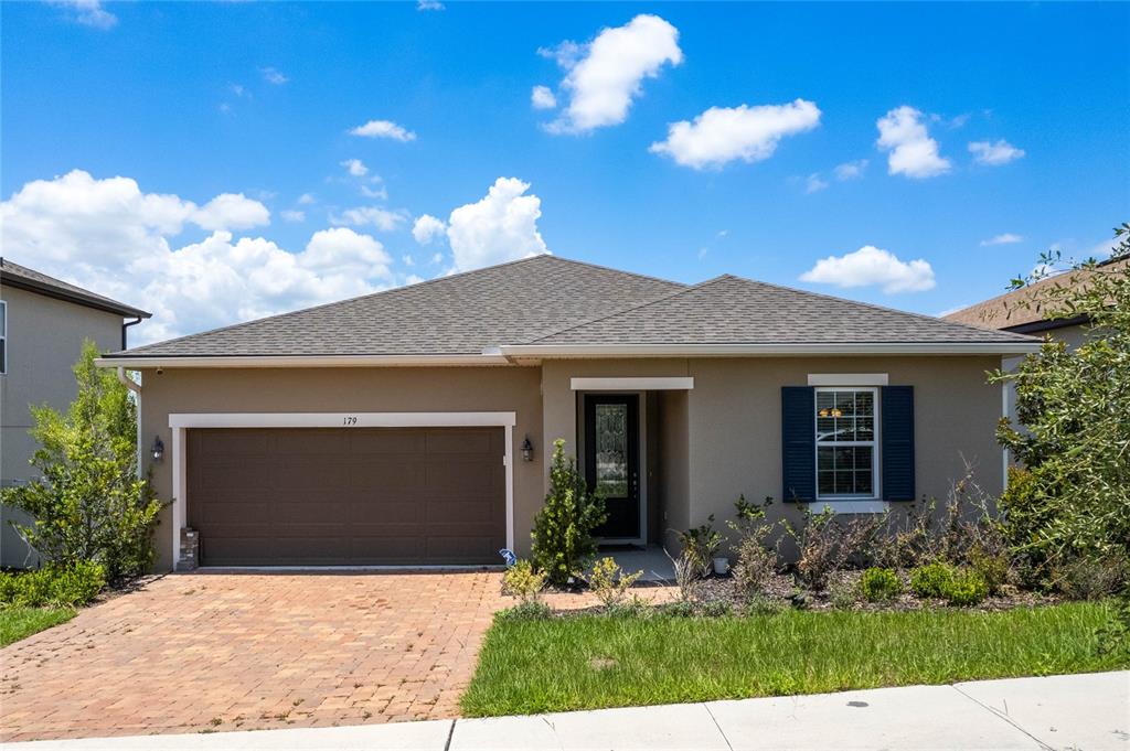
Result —
POLYGON ((687 287, 539 255, 120 356, 479 355, 507 344, 1031 341, 738 277, 687 287))

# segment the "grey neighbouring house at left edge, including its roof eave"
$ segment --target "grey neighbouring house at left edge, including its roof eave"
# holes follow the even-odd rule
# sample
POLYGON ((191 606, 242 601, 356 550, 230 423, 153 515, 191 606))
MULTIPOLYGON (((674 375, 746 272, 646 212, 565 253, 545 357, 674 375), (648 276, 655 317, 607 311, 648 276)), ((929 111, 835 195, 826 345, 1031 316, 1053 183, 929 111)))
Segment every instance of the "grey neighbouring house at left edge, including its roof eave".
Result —
MULTIPOLYGON (((95 295, 0 257, 0 487, 35 477, 28 463, 36 444, 28 435, 31 404, 66 410, 77 387, 71 368, 93 341, 108 352, 125 346, 127 326, 145 311, 95 295), (124 321, 132 318, 132 321, 124 321)), ((0 565, 34 562, 9 521, 26 516, 0 508, 0 565)))

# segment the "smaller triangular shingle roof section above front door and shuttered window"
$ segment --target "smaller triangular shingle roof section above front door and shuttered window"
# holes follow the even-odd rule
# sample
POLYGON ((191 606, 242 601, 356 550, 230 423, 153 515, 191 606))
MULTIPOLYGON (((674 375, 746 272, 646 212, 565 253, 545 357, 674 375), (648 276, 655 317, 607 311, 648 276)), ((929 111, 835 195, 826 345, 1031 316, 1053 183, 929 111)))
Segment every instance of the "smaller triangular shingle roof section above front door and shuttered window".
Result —
POLYGON ((725 274, 531 344, 1027 342, 925 315, 725 274))

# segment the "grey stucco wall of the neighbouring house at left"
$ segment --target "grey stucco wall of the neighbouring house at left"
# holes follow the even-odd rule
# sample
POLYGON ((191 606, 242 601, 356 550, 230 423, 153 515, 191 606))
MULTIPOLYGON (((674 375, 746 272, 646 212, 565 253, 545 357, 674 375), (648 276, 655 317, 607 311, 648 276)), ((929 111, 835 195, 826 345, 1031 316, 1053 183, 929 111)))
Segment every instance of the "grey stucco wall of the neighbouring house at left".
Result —
MULTIPOLYGON (((0 486, 34 477, 28 464, 36 444, 29 404, 64 410, 77 387, 71 367, 90 339, 102 351, 121 348, 122 317, 15 287, 0 286, 7 303, 8 373, 0 375, 0 486)), ((26 522, 24 514, 0 507, 0 564, 21 566, 27 545, 8 524, 26 522)))

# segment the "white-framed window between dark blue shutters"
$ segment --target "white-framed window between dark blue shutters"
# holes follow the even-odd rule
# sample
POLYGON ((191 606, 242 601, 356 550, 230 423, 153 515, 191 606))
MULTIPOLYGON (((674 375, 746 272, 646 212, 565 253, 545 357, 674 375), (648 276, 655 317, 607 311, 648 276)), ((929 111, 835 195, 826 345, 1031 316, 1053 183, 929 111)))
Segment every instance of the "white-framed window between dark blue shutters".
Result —
POLYGON ((879 498, 879 390, 816 388, 816 497, 879 498))

